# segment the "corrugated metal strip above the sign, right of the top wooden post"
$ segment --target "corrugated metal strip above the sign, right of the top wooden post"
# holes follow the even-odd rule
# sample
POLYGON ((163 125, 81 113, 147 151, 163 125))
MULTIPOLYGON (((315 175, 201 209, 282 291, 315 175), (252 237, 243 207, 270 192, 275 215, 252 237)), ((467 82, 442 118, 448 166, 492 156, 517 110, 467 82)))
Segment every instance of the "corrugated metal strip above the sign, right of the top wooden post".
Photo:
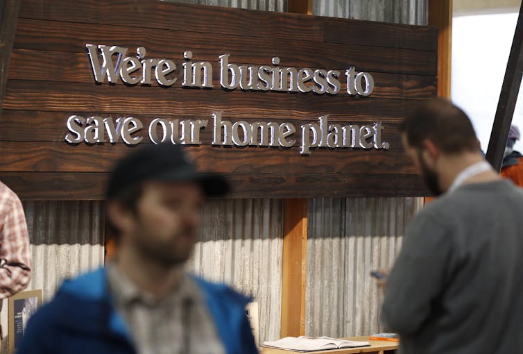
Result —
POLYGON ((429 0, 313 0, 314 15, 395 24, 429 23, 429 0))

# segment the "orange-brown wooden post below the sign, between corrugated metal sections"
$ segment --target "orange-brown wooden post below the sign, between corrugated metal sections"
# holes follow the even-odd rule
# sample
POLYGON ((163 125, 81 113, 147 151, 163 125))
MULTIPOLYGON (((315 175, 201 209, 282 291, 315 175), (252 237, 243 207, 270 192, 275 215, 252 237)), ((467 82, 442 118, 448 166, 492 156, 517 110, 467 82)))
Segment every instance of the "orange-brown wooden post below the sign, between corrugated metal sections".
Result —
POLYGON ((285 199, 281 337, 305 335, 307 199, 285 199))

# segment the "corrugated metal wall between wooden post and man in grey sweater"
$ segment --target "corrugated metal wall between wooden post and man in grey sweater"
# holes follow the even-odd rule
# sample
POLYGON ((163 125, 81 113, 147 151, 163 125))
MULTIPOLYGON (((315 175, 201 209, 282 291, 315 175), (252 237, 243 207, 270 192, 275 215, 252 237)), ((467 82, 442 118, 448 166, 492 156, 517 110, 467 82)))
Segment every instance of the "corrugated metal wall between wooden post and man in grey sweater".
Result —
POLYGON ((370 271, 391 267, 420 198, 311 199, 307 240, 307 335, 384 330, 370 271))

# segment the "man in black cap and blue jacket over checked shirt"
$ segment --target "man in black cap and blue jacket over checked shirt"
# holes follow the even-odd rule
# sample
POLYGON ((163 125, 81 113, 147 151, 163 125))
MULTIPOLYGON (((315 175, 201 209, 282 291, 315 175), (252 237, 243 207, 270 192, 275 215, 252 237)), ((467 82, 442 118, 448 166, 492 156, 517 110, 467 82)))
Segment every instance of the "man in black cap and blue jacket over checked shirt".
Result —
POLYGON ((183 270, 203 196, 227 190, 180 146, 150 145, 120 160, 106 190, 116 258, 66 281, 29 320, 18 354, 257 353, 248 299, 183 270))

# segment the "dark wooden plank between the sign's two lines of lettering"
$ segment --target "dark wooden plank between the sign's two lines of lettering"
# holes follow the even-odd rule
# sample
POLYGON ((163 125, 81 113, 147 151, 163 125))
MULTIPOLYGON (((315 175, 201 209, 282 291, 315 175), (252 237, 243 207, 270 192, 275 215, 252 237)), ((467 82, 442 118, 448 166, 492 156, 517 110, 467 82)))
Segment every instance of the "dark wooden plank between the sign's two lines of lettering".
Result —
POLYGON ((253 118, 266 118, 285 112, 309 115, 316 120, 329 112, 343 112, 348 117, 402 117, 415 100, 374 96, 350 96, 292 92, 224 91, 126 87, 49 83, 47 81, 10 81, 3 108, 8 110, 53 110, 74 112, 110 112, 124 115, 191 115, 196 111, 210 117, 212 112, 242 110, 253 118), (410 101, 410 103, 409 103, 410 101))

